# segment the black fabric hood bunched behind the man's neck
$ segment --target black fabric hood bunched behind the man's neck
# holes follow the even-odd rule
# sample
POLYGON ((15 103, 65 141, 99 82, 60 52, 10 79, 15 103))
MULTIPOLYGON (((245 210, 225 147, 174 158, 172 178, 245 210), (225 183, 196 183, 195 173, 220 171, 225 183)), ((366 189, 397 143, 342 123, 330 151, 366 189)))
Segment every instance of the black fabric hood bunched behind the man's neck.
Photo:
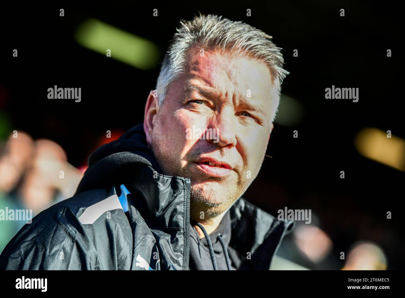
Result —
POLYGON ((131 176, 131 169, 145 165, 161 172, 153 151, 148 147, 143 124, 138 124, 119 139, 102 145, 88 160, 88 168, 77 187, 77 193, 105 189, 131 176))

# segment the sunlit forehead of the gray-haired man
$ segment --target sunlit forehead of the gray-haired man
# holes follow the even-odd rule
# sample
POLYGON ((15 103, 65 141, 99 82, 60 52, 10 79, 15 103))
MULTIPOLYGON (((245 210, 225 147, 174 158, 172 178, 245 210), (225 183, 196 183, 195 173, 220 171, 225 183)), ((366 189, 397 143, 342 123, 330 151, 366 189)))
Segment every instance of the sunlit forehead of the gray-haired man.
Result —
POLYGON ((264 96, 277 90, 269 67, 262 61, 240 53, 204 50, 193 47, 188 52, 187 80, 199 80, 220 93, 264 96))

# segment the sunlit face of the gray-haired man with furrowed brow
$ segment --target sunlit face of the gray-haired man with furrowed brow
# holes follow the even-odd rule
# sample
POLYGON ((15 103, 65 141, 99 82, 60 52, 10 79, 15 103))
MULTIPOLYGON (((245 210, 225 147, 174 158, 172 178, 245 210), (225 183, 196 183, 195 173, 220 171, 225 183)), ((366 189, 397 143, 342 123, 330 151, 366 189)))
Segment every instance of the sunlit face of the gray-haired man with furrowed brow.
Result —
POLYGON ((218 50, 202 56, 200 48, 189 55, 185 75, 170 85, 153 118, 151 146, 164 174, 190 178, 192 218, 200 211, 215 217, 259 172, 278 85, 253 58, 218 50))

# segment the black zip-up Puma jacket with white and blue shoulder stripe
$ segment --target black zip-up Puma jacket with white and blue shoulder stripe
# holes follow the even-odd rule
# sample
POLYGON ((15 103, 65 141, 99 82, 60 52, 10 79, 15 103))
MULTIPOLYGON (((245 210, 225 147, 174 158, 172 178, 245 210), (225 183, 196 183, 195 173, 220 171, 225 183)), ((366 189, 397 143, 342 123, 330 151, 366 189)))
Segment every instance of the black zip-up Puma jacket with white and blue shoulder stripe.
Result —
MULTIPOLYGON (((142 124, 101 146, 75 195, 24 225, 2 252, 0 269, 201 269, 198 252, 190 253, 190 179, 159 173, 142 124)), ((294 223, 242 197, 228 212, 232 267, 269 270, 294 223)))

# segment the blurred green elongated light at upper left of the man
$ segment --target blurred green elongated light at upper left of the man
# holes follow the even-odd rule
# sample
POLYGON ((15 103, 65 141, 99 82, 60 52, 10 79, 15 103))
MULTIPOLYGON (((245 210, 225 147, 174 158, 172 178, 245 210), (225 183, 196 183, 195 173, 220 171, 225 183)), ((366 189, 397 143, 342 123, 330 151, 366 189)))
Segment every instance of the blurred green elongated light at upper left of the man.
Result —
POLYGON ((75 39, 106 57, 110 49, 111 58, 139 69, 152 69, 159 62, 159 49, 154 43, 96 19, 84 21, 77 28, 75 39))

